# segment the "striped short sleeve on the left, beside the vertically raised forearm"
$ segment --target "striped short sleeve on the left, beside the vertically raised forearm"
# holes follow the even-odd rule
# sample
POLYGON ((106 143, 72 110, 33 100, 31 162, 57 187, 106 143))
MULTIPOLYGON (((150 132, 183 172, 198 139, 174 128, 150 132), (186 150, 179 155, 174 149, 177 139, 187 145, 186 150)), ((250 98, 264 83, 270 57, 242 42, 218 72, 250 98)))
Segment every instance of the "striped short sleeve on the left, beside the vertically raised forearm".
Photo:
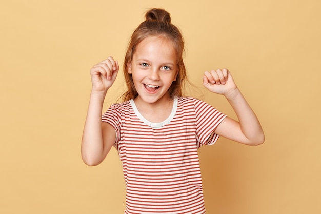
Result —
POLYGON ((113 146, 116 148, 121 135, 121 121, 121 113, 119 112, 119 109, 117 109, 116 105, 111 105, 102 115, 102 122, 109 123, 115 129, 116 139, 113 146))

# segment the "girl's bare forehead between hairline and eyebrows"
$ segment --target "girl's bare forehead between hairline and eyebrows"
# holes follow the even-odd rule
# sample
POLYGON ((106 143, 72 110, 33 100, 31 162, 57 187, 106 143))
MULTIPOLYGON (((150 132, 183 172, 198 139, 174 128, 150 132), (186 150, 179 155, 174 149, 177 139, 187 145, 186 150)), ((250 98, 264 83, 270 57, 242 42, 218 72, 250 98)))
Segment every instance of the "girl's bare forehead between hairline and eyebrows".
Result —
POLYGON ((167 59, 176 62, 174 44, 166 37, 150 36, 137 45, 133 58, 167 59))

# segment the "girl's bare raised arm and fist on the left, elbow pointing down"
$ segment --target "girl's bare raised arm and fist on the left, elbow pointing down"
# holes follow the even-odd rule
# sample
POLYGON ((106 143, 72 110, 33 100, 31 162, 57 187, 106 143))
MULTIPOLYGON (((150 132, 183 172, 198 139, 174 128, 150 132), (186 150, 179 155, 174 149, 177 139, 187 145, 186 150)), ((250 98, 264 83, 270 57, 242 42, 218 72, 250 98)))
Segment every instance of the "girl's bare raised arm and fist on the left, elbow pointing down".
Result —
POLYGON ((90 70, 92 90, 82 138, 82 159, 90 166, 101 163, 115 141, 115 130, 108 123, 102 123, 102 109, 118 70, 118 62, 111 56, 90 70))

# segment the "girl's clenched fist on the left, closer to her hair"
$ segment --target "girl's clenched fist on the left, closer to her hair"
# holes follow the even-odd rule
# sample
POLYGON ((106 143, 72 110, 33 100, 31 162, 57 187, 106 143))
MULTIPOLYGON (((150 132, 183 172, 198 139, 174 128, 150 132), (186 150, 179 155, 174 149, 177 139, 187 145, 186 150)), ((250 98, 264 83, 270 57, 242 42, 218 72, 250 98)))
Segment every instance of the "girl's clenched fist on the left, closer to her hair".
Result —
POLYGON ((118 61, 115 61, 112 56, 94 65, 90 69, 92 91, 106 93, 114 83, 118 70, 118 61))

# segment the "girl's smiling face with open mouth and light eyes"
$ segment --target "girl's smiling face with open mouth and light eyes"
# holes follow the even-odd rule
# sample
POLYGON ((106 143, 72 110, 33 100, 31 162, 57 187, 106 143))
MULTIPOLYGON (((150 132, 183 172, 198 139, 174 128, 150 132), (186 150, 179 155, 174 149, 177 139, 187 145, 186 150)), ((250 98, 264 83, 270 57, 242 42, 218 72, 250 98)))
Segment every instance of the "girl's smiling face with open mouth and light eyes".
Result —
POLYGON ((169 40, 152 36, 139 43, 128 63, 137 98, 149 104, 168 102, 168 89, 177 77, 176 65, 176 52, 169 40))

